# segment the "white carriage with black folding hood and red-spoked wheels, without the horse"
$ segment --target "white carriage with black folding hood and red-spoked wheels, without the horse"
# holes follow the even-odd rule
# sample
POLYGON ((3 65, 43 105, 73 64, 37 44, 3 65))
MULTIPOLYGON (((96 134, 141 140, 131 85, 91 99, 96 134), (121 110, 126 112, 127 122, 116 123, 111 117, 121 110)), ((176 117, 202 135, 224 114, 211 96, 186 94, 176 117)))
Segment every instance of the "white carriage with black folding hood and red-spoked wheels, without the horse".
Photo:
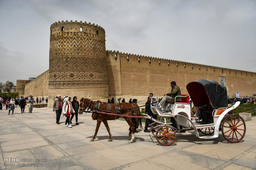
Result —
MULTIPOLYGON (((168 103, 165 112, 160 112, 156 104, 151 105, 152 112, 159 115, 160 119, 154 119, 146 114, 147 118, 154 121, 151 124, 152 133, 161 145, 173 144, 176 132, 180 132, 182 126, 186 128, 185 130, 194 130, 195 135, 203 139, 218 138, 219 131, 222 131, 223 137, 228 142, 236 143, 244 138, 246 132, 244 119, 237 114, 230 114, 240 102, 228 108, 225 86, 214 80, 200 79, 189 83, 187 91, 189 94, 182 94, 181 102, 168 103), (198 114, 192 116, 189 96, 196 109, 211 104, 213 111, 210 116, 208 115, 210 119, 208 123, 198 122, 198 114)), ((152 101, 158 101, 158 97, 152 98, 152 101)))

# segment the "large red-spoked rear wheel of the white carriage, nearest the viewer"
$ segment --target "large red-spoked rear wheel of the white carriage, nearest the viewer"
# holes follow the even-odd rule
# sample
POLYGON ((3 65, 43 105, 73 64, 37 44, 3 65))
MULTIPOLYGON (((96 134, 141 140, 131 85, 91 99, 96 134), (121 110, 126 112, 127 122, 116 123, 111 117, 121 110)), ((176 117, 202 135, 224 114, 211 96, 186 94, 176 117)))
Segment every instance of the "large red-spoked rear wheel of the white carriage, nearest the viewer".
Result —
POLYGON ((228 115, 221 127, 222 135, 228 142, 237 143, 244 138, 246 126, 244 119, 239 115, 228 115))

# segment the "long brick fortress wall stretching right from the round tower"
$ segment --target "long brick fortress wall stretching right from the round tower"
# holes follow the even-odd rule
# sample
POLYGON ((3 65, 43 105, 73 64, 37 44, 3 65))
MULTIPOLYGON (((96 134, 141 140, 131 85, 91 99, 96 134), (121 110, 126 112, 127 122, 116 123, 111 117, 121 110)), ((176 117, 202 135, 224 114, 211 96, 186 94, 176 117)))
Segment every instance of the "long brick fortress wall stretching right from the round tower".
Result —
POLYGON ((175 81, 183 94, 186 85, 194 80, 206 79, 220 82, 226 78, 228 96, 252 96, 256 92, 256 73, 180 62, 155 57, 107 51, 107 70, 110 96, 141 96, 152 92, 163 95, 171 91, 175 81))

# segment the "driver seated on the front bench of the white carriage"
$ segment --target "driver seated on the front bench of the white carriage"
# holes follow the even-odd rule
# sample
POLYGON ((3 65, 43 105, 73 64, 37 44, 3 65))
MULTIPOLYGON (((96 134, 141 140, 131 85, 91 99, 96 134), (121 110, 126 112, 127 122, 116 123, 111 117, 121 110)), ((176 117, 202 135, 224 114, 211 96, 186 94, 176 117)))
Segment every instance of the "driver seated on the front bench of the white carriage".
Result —
MULTIPOLYGON (((160 109, 161 112, 164 112, 166 101, 174 103, 175 97, 181 96, 180 87, 178 85, 176 85, 175 81, 171 82, 171 88, 172 88, 171 92, 164 94, 163 99, 157 104, 158 108, 160 108, 162 106, 162 108, 160 109)), ((176 101, 178 101, 178 102, 181 101, 181 97, 176 97, 176 101)))

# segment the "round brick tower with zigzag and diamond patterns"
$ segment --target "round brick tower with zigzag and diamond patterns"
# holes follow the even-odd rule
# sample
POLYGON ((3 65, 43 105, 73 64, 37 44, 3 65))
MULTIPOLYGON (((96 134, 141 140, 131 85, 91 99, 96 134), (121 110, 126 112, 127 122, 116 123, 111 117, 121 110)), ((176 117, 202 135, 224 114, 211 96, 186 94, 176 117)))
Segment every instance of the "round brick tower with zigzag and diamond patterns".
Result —
POLYGON ((105 30, 86 22, 62 21, 50 27, 49 97, 109 96, 105 30))

